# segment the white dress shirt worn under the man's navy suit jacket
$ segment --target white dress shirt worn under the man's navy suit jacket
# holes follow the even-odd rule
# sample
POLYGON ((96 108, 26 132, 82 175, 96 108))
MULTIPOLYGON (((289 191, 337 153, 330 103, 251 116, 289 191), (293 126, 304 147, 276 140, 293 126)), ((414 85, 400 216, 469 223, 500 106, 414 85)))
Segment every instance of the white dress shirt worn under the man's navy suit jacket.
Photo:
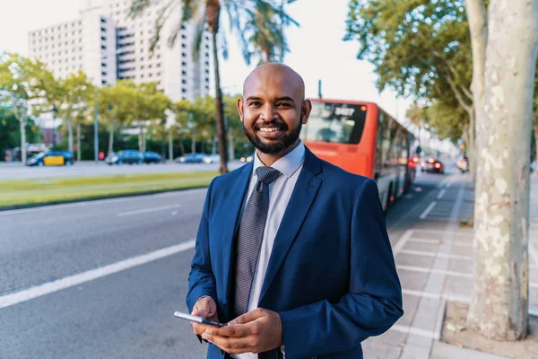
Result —
MULTIPOLYGON (((258 255, 256 274, 252 282, 247 311, 253 311, 258 306, 260 295, 262 293, 262 285, 264 285, 265 272, 267 271, 269 258, 271 258, 271 252, 273 251, 274 237, 276 237, 276 232, 278 232, 282 217, 290 202, 291 193, 299 178, 303 162, 305 162, 305 145, 300 141, 297 147, 277 162, 274 162, 271 166, 274 169, 281 171, 282 175, 269 185, 270 199, 267 222, 265 222, 264 238, 262 239, 262 245, 258 255)), ((260 166, 264 166, 264 163, 260 161, 256 151, 256 155, 254 156, 254 168, 248 186, 248 197, 245 206, 247 206, 248 199, 256 186, 256 169, 260 166)), ((237 359, 257 359, 257 355, 253 353, 231 355, 231 357, 237 359)))

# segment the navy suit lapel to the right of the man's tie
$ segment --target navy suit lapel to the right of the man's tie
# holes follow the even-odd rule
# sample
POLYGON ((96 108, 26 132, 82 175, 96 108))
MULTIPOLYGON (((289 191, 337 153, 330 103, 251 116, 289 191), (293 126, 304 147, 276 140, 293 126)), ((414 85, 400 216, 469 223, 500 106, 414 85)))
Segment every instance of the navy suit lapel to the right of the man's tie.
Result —
POLYGON ((310 209, 316 197, 317 189, 322 182, 316 177, 319 172, 321 172, 320 160, 308 148, 305 148, 303 168, 300 171, 299 179, 297 179, 295 188, 293 188, 290 202, 286 207, 282 222, 274 238, 273 251, 267 265, 260 302, 264 299, 269 285, 273 282, 274 276, 276 276, 278 269, 282 265, 282 261, 286 257, 286 254, 288 254, 291 243, 293 243, 297 232, 299 232, 299 228, 308 214, 308 209, 310 209))

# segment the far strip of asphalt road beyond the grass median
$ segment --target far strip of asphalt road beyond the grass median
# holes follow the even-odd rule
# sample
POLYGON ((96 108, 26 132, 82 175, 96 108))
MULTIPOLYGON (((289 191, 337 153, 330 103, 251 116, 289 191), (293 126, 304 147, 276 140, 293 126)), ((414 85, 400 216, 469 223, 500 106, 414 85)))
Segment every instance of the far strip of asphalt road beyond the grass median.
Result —
MULTIPOLYGON (((244 163, 238 160, 228 164, 235 170, 244 163)), ((0 162, 0 180, 41 179, 53 177, 106 176, 133 173, 165 173, 190 171, 219 171, 219 163, 176 163, 108 166, 104 162, 77 162, 73 166, 26 167, 19 162, 0 162)))

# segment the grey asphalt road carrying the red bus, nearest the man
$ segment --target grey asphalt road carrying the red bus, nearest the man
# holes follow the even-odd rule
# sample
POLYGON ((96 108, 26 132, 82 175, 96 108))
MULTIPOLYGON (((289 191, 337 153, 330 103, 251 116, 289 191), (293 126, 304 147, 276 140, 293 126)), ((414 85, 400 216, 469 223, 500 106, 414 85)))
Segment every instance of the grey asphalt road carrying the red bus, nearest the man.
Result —
MULTIPOLYGON (((420 174, 391 208, 393 246, 447 179, 420 174)), ((172 313, 187 310, 204 195, 0 212, 0 358, 203 358, 205 346, 172 313)))

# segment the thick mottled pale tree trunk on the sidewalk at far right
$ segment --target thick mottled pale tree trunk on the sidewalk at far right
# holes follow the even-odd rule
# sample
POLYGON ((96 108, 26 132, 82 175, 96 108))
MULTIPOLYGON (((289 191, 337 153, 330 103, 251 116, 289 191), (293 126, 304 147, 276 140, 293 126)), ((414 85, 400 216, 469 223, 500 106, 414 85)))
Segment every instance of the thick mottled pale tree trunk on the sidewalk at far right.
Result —
POLYGON ((528 326, 528 135, 538 0, 511 0, 509 11, 506 5, 490 0, 488 6, 484 117, 477 131, 474 291, 467 324, 484 337, 518 340, 528 326))

